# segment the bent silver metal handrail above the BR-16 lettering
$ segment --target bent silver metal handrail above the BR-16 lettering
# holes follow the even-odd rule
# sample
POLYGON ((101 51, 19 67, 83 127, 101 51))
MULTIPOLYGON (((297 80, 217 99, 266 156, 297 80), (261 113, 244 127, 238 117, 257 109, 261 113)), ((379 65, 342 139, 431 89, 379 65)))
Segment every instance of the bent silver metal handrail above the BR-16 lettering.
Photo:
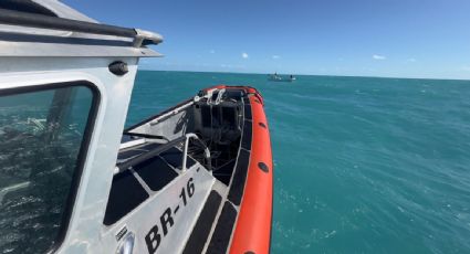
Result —
POLYGON ((196 134, 186 134, 181 137, 178 137, 174 140, 170 140, 166 144, 163 144, 161 146, 149 150, 140 156, 136 156, 127 161, 124 161, 119 165, 116 166, 116 168, 114 169, 114 174, 118 174, 122 173, 124 171, 126 171, 127 169, 132 168, 135 165, 142 163, 148 159, 154 158, 155 156, 158 156, 159 154, 177 146, 178 144, 185 141, 185 146, 184 146, 184 150, 182 150, 182 163, 181 163, 181 171, 185 172, 186 171, 186 163, 187 163, 187 159, 188 159, 188 146, 189 146, 189 139, 195 139, 197 140, 205 149, 205 157, 208 161, 208 169, 211 170, 211 161, 210 161, 210 150, 209 148, 206 146, 206 144, 196 135, 196 134))

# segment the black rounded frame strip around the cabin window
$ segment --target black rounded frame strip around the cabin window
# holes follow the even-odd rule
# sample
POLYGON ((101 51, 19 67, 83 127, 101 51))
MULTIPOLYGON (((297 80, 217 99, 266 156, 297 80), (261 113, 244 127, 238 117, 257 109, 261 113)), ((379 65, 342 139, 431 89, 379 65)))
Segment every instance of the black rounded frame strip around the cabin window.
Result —
POLYGON ((79 149, 79 156, 76 158, 76 166, 73 171, 72 181, 69 190, 69 195, 65 201, 65 207, 63 210, 63 215, 61 218, 61 225, 58 231, 58 236, 54 239, 54 243, 51 244, 50 248, 46 253, 54 253, 58 251, 62 244, 64 243, 65 236, 69 232, 70 222, 72 219, 72 212, 75 207, 76 195, 79 193, 80 182, 82 180, 83 170, 85 168, 86 158, 90 150, 90 145, 92 142, 92 136, 96 124, 96 118, 98 115, 98 109, 102 102, 102 93, 100 92, 100 87, 87 80, 75 80, 75 81, 64 81, 64 82, 54 82, 54 83, 44 83, 44 84, 34 84, 34 85, 24 85, 18 87, 8 87, 0 88, 0 97, 17 95, 17 94, 25 94, 25 93, 35 93, 59 88, 67 88, 67 87, 86 87, 92 92, 92 104, 90 106, 90 113, 86 118, 86 127, 83 133, 82 142, 79 149))

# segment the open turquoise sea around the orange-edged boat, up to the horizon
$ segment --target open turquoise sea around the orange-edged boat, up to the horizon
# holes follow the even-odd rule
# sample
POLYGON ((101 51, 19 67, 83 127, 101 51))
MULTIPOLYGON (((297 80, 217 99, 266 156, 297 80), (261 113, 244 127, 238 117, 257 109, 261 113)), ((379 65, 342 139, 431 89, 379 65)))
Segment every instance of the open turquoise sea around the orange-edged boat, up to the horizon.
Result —
POLYGON ((139 72, 127 124, 220 83, 264 96, 273 253, 470 253, 470 82, 139 72))

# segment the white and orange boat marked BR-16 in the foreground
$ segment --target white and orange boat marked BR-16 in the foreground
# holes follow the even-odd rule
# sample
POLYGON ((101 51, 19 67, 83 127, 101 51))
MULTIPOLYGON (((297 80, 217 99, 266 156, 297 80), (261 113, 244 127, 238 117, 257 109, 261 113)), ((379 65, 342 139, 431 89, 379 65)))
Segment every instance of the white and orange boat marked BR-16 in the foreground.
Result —
POLYGON ((160 42, 59 1, 0 1, 1 253, 270 252, 259 91, 212 86, 124 128, 160 42))

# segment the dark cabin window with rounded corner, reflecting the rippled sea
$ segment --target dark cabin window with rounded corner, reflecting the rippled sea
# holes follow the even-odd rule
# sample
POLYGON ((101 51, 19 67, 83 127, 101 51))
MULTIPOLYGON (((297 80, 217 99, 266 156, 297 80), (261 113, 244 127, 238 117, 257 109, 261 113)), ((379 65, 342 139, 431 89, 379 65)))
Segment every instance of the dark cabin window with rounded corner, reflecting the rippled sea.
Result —
POLYGON ((0 253, 64 236, 97 102, 87 84, 0 91, 0 253))

